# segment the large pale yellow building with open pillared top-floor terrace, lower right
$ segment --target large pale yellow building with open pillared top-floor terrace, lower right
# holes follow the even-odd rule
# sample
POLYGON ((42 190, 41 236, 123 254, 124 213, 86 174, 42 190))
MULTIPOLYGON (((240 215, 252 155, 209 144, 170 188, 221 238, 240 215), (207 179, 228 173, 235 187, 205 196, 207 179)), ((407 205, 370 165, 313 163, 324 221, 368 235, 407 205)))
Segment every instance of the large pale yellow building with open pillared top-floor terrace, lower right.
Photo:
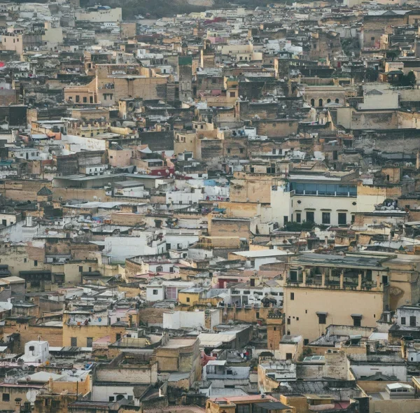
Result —
POLYGON ((292 259, 283 296, 286 334, 308 344, 330 324, 374 327, 389 305, 384 260, 315 253, 292 259))

